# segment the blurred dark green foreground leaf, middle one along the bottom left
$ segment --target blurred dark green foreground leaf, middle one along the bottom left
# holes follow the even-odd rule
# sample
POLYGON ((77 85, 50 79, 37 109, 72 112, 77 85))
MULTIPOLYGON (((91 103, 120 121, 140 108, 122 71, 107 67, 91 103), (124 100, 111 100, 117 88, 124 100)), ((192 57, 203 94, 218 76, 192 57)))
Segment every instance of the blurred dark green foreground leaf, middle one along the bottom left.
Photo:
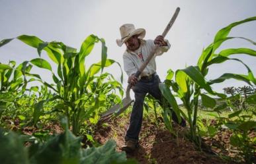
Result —
POLYGON ((81 156, 81 138, 75 137, 67 128, 63 134, 50 138, 44 145, 30 146, 30 161, 43 163, 79 164, 81 156))

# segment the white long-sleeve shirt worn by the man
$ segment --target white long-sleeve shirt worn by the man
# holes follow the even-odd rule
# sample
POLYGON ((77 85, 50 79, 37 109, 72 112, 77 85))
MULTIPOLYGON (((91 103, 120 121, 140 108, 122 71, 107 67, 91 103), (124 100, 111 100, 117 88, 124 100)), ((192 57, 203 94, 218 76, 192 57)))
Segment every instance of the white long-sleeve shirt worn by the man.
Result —
MULTIPOLYGON (((165 41, 167 42, 167 46, 162 46, 157 49, 154 57, 151 59, 151 61, 149 61, 147 67, 144 69, 142 74, 140 74, 141 77, 148 76, 156 71, 155 57, 158 55, 162 55, 171 47, 169 41, 165 41)), ((153 40, 141 40, 140 47, 136 49, 136 51, 130 51, 126 49, 123 55, 123 60, 124 70, 128 74, 128 76, 135 74, 137 72, 142 63, 146 61, 154 47, 155 43, 153 43, 153 40)))

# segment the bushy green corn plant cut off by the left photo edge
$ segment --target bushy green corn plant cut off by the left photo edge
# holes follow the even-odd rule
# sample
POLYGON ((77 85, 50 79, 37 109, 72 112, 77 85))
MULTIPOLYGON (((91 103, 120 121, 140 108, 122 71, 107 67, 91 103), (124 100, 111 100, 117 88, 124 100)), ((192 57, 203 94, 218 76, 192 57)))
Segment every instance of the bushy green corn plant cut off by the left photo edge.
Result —
POLYGON ((33 77, 28 78, 26 76, 33 76, 33 74, 30 74, 32 65, 23 67, 25 64, 21 63, 18 67, 15 67, 15 61, 9 61, 8 65, 0 63, 0 117, 3 113, 8 113, 12 118, 17 116, 21 106, 19 101, 26 99, 24 92, 27 84, 36 80, 33 77))

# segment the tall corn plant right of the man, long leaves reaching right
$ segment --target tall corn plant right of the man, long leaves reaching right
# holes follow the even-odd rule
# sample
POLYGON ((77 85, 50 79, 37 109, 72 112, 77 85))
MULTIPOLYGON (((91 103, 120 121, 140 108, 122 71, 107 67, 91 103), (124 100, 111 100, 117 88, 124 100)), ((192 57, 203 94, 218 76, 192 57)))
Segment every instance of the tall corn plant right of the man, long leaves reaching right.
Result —
MULTIPOLYGON (((246 54, 251 55, 252 57, 256 56, 256 51, 249 48, 231 48, 231 49, 224 49, 220 51, 220 53, 216 53, 216 49, 227 40, 233 39, 241 39, 249 41, 256 45, 254 41, 251 41, 247 38, 242 37, 228 37, 230 30, 239 24, 243 24, 245 22, 256 20, 256 17, 247 18, 245 20, 241 20, 239 22, 234 22, 222 30, 218 31, 214 41, 206 47, 202 51, 202 55, 198 59, 198 63, 196 66, 189 66, 184 69, 179 69, 175 72, 175 80, 172 80, 174 76, 174 72, 169 70, 167 74, 167 78, 165 80, 165 84, 159 84, 159 88, 163 93, 163 96, 167 99, 167 101, 173 107, 175 113, 179 116, 180 113, 187 119, 190 127, 190 137, 191 140, 200 148, 201 140, 200 136, 197 134, 196 128, 198 128, 196 121, 197 121, 197 111, 198 111, 198 99, 202 99, 202 105, 205 107, 211 107, 214 109, 222 109, 222 105, 216 106, 216 100, 211 96, 218 96, 221 99, 225 99, 225 94, 220 94, 212 90, 211 85, 224 82, 224 80, 228 80, 230 78, 234 78, 236 80, 241 80, 246 82, 247 84, 253 86, 256 85, 256 79, 253 76, 253 72, 251 69, 243 63, 243 61, 235 58, 230 58, 230 55, 235 54, 246 54), (224 63, 225 61, 237 61, 245 66, 247 69, 248 74, 234 74, 234 73, 224 73, 219 78, 214 80, 206 81, 206 75, 209 72, 209 68, 212 65, 216 65, 218 63, 224 63), (170 90, 170 87, 173 91, 170 90), (206 94, 204 93, 206 92, 206 94), (175 93, 175 94, 174 94, 175 93), (211 95, 211 96, 209 96, 211 95), (183 113, 179 106, 177 105, 177 101, 175 96, 179 97, 181 101, 183 101, 183 105, 187 109, 187 115, 183 113)), ((224 105, 225 106, 225 105, 224 105)), ((179 117, 179 120, 181 118, 179 117)))

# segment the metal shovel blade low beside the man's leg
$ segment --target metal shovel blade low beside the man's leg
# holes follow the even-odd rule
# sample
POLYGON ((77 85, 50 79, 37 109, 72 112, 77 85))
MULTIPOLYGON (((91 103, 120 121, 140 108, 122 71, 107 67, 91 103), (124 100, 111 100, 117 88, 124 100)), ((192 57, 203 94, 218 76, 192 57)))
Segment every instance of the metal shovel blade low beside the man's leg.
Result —
POLYGON ((101 115, 101 118, 107 117, 108 115, 112 115, 113 113, 116 116, 120 115, 130 106, 132 102, 133 100, 130 97, 125 97, 124 99, 122 99, 121 103, 116 104, 112 106, 110 109, 108 109, 108 111, 105 111, 105 113, 101 115))

